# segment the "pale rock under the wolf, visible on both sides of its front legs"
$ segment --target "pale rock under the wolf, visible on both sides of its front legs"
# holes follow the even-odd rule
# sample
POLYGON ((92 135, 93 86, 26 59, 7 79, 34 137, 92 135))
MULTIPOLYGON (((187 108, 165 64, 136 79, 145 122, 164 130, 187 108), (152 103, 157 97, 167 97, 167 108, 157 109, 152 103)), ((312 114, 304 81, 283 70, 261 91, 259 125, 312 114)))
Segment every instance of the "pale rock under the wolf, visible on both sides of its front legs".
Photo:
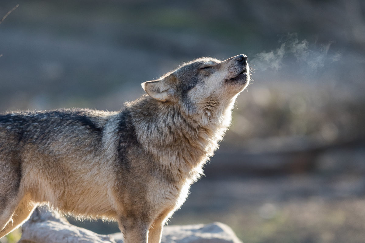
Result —
MULTIPOLYGON (((165 226, 162 243, 241 243, 226 224, 165 226)), ((19 243, 123 243, 122 233, 99 235, 70 224, 56 211, 35 209, 23 224, 19 243)))

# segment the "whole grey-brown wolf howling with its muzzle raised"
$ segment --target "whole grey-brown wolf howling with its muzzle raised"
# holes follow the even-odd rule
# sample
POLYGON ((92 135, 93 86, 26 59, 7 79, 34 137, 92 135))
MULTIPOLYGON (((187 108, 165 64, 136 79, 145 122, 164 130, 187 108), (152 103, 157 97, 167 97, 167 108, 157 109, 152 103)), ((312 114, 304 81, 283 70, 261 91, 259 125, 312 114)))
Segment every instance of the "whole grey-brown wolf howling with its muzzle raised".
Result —
POLYGON ((246 55, 200 58, 142 83, 118 112, 0 114, 0 238, 48 204, 116 220, 126 243, 160 243, 249 82, 246 55))

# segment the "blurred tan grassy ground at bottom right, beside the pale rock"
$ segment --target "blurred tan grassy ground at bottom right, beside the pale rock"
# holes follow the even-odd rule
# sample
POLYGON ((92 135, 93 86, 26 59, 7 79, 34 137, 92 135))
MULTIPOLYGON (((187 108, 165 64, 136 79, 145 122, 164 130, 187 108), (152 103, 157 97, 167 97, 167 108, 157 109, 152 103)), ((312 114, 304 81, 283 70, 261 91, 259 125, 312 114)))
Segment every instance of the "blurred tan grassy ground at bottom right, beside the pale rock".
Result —
POLYGON ((228 224, 245 243, 362 243, 365 239, 365 200, 346 199, 292 201, 233 207, 227 212, 200 215, 189 213, 171 220, 171 224, 228 224), (266 210, 267 211, 267 210, 266 210))

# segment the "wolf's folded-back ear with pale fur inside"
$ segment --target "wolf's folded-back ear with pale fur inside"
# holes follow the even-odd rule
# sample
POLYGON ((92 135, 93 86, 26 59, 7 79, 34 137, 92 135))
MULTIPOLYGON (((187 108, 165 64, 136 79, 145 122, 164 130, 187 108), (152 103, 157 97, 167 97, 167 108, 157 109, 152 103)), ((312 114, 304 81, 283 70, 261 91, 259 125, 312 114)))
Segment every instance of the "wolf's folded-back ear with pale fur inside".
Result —
POLYGON ((176 98, 177 78, 170 74, 169 76, 142 83, 142 88, 146 93, 159 101, 172 101, 176 98))

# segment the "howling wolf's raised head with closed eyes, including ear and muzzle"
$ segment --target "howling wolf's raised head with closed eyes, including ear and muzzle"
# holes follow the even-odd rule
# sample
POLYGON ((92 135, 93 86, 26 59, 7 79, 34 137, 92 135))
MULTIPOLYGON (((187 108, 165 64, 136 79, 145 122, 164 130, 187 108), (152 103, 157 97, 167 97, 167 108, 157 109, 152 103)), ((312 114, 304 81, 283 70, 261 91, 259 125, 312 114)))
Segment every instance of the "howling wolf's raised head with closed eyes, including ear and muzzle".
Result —
POLYGON ((238 55, 222 62, 199 58, 142 87, 150 97, 179 105, 188 113, 211 113, 228 108, 249 81, 247 56, 238 55))

